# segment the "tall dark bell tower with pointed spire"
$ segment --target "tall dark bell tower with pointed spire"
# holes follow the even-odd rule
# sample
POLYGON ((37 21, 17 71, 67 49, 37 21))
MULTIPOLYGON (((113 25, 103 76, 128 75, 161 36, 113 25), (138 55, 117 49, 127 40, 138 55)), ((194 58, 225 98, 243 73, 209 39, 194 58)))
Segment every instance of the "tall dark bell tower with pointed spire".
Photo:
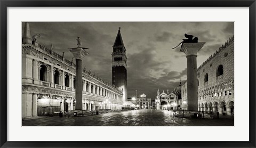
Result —
POLYGON ((112 55, 112 84, 123 92, 123 102, 127 101, 127 57, 121 36, 121 27, 118 29, 112 55))

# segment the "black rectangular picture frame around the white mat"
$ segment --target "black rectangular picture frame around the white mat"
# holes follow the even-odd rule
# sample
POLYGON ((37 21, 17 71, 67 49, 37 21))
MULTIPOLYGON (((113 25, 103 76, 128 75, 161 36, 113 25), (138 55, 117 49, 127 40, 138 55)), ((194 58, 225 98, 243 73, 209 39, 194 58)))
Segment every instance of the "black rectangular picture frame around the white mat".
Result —
MULTIPOLYGON (((255 147, 255 0, 0 0, 0 146, 1 147, 255 147), (7 7, 249 7, 250 17, 250 141, 248 142, 13 142, 7 141, 7 7)), ((243 49, 241 49, 243 50, 243 49)), ((242 136, 242 135, 241 135, 242 136)), ((198 140, 200 138, 198 137, 198 140)))

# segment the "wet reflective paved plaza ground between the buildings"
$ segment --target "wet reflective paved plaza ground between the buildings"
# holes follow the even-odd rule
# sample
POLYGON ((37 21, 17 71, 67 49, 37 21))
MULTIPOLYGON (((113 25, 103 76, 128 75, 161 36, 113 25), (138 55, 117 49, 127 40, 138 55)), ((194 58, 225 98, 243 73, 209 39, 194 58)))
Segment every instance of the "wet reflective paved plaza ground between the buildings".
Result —
POLYGON ((39 117, 22 126, 234 126, 234 116, 219 119, 173 117, 167 110, 132 110, 84 117, 39 117))

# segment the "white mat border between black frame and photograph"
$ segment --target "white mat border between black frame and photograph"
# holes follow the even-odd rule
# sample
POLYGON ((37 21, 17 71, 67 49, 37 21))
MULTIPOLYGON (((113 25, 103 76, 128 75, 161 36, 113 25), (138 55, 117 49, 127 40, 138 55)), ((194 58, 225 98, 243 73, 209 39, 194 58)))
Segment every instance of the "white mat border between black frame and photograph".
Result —
POLYGON ((8 7, 7 14, 7 141, 249 141, 249 7, 8 7), (21 127, 22 21, 235 21, 235 126, 21 127))

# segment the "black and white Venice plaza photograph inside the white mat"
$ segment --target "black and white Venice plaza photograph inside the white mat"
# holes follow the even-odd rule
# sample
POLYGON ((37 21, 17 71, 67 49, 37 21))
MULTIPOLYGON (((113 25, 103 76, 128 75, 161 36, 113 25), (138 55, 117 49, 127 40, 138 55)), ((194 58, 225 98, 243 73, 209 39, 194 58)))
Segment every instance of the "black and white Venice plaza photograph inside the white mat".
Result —
POLYGON ((234 126, 234 22, 21 26, 22 126, 234 126))

